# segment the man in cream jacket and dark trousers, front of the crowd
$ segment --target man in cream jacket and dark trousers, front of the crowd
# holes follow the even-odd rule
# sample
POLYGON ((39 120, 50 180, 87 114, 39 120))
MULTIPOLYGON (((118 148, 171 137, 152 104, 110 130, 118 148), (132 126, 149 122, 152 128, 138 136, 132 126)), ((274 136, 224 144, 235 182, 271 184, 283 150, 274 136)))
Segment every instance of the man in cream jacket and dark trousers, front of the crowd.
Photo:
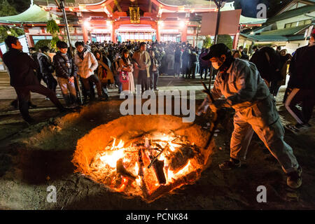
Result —
POLYGON ((85 44, 83 42, 77 41, 75 45, 78 52, 74 57, 74 61, 78 66, 78 75, 82 78, 87 95, 90 96, 90 100, 94 99, 94 96, 90 92, 90 82, 92 82, 97 87, 97 94, 99 96, 99 101, 101 101, 104 99, 102 84, 99 81, 99 78, 94 75, 94 70, 99 66, 97 59, 90 50, 87 50, 87 48, 84 47, 85 44))

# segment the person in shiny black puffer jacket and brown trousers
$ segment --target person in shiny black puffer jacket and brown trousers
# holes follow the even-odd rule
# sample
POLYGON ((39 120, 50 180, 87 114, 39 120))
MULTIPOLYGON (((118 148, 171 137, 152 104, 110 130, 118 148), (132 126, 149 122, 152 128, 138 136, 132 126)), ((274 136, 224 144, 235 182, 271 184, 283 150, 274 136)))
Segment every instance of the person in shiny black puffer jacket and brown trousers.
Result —
POLYGON ((64 41, 57 42, 59 49, 52 62, 55 66, 55 73, 59 83, 59 87, 64 96, 66 106, 78 106, 78 98, 76 94, 76 86, 74 85, 74 76, 76 76, 78 68, 73 59, 68 56, 68 45, 64 41))

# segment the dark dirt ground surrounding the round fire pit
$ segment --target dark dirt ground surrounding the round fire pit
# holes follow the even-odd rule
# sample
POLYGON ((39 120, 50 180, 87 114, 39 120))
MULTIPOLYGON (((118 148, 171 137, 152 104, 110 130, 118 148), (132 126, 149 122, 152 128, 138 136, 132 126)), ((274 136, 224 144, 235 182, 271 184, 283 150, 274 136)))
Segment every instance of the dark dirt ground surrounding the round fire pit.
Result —
MULTIPOLYGON (((283 124, 294 123, 280 101, 281 96, 277 104, 283 124)), ((2 106, 9 103, 1 100, 2 106)), ((18 113, 0 116, 0 209, 315 209, 314 119, 307 133, 286 132, 285 140, 303 169, 299 190, 286 186, 279 163, 257 136, 251 141, 245 165, 231 172, 218 169, 218 163, 230 155, 232 113, 219 126, 211 165, 201 178, 151 204, 140 197, 113 193, 74 173, 71 160, 78 139, 119 118, 119 106, 120 100, 115 99, 97 102, 63 118, 53 109, 38 111, 32 113, 38 123, 30 127, 18 113), (46 200, 48 186, 57 188, 56 203, 46 200), (257 202, 258 186, 266 186, 267 203, 257 202)), ((195 120, 200 128, 207 122, 209 116, 195 120)))

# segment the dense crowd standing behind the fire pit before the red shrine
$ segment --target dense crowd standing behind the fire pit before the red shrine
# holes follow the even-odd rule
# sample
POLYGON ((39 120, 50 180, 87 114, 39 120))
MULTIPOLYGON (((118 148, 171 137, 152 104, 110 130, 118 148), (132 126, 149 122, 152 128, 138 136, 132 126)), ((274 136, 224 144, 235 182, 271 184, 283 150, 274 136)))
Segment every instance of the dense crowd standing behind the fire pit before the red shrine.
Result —
POLYGON ((104 41, 85 44, 78 41, 70 48, 64 41, 59 41, 57 49, 52 53, 48 46, 38 51, 30 48, 30 53, 38 64, 34 72, 39 83, 43 80, 55 93, 59 84, 68 107, 78 106, 77 75, 83 102, 88 102, 95 99, 94 87, 99 100, 109 100, 108 87, 118 88, 118 93, 123 90, 135 92, 135 84, 141 85, 142 91, 158 90, 161 75, 196 78, 197 73, 201 73, 201 77, 207 79, 211 66, 200 59, 207 49, 199 49, 188 43, 104 41))

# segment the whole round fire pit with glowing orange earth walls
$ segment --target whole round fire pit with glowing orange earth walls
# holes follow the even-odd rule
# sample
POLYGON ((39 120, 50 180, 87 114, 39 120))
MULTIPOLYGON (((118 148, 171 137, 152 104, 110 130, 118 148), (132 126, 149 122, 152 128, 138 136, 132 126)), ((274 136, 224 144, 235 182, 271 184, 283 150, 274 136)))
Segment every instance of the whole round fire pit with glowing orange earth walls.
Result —
POLYGON ((209 165, 212 145, 200 126, 175 116, 125 116, 78 140, 77 172, 146 202, 196 181, 209 165))

